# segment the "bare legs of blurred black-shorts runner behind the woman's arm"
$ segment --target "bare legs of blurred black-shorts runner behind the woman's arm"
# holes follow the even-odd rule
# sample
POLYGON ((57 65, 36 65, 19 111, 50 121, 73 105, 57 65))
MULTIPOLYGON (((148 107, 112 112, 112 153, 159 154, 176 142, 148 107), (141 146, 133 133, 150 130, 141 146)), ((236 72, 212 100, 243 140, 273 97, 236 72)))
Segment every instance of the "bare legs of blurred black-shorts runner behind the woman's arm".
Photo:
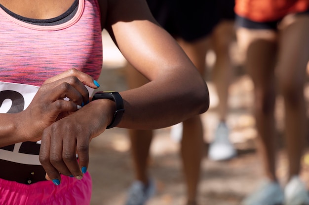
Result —
MULTIPOLYGON (((205 36, 193 42, 182 38, 176 41, 183 48, 197 70, 204 75, 205 56, 209 37, 205 36)), ((148 82, 147 78, 137 72, 130 64, 126 66, 129 88, 136 88, 148 82)), ((149 183, 148 158, 151 146, 152 130, 129 130, 131 151, 135 169, 135 177, 146 186, 149 183)), ((203 128, 199 115, 183 121, 183 136, 181 140, 181 158, 187 187, 187 204, 196 204, 198 182, 200 178, 200 163, 203 156, 203 128)))

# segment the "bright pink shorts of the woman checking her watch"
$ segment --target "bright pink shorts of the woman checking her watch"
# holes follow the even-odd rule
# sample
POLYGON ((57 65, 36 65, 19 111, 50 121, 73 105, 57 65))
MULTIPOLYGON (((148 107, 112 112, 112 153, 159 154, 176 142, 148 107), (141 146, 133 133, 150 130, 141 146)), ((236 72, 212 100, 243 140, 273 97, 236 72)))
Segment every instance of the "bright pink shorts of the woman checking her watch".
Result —
POLYGON ((0 205, 89 205, 92 182, 88 172, 81 180, 61 176, 61 184, 40 181, 31 185, 0 179, 0 205))

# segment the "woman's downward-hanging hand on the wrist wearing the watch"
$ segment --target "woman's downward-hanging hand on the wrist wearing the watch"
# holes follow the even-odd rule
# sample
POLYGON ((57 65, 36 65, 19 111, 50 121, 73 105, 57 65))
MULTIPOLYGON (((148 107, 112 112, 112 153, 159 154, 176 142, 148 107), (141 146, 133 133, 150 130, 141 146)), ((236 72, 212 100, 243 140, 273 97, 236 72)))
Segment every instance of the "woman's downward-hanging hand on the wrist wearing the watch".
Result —
POLYGON ((97 100, 47 127, 39 152, 46 178, 56 185, 61 183, 60 174, 81 179, 88 168, 89 142, 104 132, 114 112, 114 102, 97 100))

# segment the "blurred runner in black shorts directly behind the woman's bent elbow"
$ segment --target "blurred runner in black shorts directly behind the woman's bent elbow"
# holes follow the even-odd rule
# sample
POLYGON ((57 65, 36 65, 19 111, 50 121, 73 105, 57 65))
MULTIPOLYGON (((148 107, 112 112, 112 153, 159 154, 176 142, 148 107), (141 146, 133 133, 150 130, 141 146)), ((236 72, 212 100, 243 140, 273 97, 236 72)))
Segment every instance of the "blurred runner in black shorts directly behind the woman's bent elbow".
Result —
MULTIPOLYGON (((218 23, 215 0, 188 1, 147 0, 158 23, 169 32, 204 75, 205 58, 210 34, 218 23)), ((130 88, 148 82, 128 64, 127 81, 130 88)), ((178 71, 174 73, 178 74, 178 71)), ((190 95, 188 96, 190 99, 190 95)), ((179 101, 182 103, 182 101, 179 101)), ((129 130, 136 181, 131 185, 126 205, 144 205, 154 194, 154 181, 148 174, 149 150, 153 137, 150 130, 129 130)), ((187 187, 187 205, 196 205, 200 163, 203 156, 203 127, 200 116, 183 121, 181 157, 187 187)))

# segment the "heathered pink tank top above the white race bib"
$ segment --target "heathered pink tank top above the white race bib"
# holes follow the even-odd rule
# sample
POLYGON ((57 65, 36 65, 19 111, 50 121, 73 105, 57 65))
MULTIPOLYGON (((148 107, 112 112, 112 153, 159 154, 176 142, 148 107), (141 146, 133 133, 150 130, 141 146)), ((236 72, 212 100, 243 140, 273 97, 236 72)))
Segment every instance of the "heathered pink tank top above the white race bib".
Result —
POLYGON ((58 26, 19 21, 0 9, 0 81, 40 86, 77 68, 98 79, 102 37, 97 0, 79 0, 77 14, 58 26))

